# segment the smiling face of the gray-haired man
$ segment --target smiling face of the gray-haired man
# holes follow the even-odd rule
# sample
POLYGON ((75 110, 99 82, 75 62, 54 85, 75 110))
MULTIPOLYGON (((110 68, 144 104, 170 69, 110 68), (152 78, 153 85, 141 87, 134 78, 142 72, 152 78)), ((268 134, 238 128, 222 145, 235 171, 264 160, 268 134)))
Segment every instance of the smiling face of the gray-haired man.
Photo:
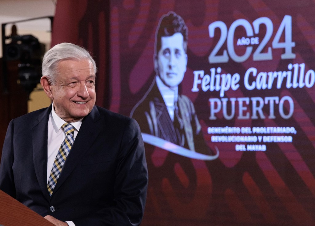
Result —
POLYGON ((64 60, 58 64, 58 75, 50 86, 57 115, 66 122, 87 116, 95 104, 95 72, 89 60, 64 60))

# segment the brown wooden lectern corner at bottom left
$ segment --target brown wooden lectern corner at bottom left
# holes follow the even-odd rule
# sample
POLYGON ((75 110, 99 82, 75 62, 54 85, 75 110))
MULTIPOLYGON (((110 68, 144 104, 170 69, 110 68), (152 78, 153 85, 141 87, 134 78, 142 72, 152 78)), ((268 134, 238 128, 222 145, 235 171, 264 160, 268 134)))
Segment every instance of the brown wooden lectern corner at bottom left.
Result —
POLYGON ((19 201, 0 190, 0 225, 3 226, 54 226, 19 201))

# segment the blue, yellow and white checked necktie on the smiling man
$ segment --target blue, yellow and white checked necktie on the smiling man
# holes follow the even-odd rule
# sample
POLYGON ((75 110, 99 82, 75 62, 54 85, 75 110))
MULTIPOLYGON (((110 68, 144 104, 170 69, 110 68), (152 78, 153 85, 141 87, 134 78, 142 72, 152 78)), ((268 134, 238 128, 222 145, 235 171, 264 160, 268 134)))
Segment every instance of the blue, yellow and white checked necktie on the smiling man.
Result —
POLYGON ((73 141, 74 141, 74 127, 70 123, 65 123, 61 126, 61 128, 66 133, 66 138, 62 142, 59 152, 56 156, 56 159, 54 161, 53 168, 51 169, 47 188, 49 191, 50 196, 53 193, 54 187, 56 186, 57 179, 61 173, 62 167, 65 164, 66 158, 70 152, 70 149, 72 147, 73 141))

